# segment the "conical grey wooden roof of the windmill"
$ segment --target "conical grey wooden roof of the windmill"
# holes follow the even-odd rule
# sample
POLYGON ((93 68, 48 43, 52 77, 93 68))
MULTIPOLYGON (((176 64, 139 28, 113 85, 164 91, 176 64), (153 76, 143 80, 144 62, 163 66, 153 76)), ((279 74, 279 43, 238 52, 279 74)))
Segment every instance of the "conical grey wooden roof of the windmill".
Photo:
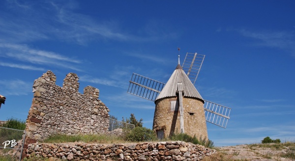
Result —
POLYGON ((179 63, 155 101, 165 97, 177 96, 178 82, 182 83, 184 97, 193 97, 204 101, 204 99, 202 98, 194 84, 191 82, 191 80, 189 80, 179 63))

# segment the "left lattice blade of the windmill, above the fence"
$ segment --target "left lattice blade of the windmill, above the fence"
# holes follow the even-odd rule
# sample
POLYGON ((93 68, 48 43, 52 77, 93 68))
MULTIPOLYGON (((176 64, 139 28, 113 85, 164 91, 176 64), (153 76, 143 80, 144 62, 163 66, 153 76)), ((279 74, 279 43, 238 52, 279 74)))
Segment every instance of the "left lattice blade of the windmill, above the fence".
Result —
POLYGON ((130 83, 127 93, 150 101, 155 101, 158 94, 165 86, 165 83, 149 79, 136 73, 132 74, 131 80, 129 82, 130 83))

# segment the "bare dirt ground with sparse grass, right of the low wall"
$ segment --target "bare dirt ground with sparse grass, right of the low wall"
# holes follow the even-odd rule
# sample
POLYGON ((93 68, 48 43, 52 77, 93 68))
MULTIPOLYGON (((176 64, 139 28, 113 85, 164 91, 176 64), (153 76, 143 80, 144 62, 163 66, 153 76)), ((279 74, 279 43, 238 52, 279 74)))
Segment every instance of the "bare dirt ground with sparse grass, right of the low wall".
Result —
POLYGON ((293 148, 284 144, 217 147, 217 153, 205 157, 203 161, 295 161, 286 157, 286 154, 295 155, 293 148))

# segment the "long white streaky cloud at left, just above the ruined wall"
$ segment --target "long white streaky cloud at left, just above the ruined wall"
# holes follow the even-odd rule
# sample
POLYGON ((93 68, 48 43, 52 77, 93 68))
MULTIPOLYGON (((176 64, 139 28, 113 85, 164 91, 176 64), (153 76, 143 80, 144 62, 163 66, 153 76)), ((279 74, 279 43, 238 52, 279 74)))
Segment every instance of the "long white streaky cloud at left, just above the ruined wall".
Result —
MULTIPOLYGON (((72 65, 81 63, 80 60, 66 57, 54 52, 32 49, 26 45, 0 43, 0 57, 9 57, 31 64, 55 65, 76 71, 82 71, 72 65)), ((33 67, 31 65, 21 65, 16 63, 1 63, 1 65, 27 70, 44 70, 42 67, 33 67)))

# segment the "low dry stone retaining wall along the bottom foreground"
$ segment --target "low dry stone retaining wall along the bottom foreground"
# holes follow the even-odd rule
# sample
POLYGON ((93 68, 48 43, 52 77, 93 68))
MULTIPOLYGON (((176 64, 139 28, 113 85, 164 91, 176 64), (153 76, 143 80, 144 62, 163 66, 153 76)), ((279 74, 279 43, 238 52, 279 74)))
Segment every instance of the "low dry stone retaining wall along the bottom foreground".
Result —
POLYGON ((35 143, 26 154, 63 161, 200 161, 216 150, 183 141, 124 144, 35 143))

